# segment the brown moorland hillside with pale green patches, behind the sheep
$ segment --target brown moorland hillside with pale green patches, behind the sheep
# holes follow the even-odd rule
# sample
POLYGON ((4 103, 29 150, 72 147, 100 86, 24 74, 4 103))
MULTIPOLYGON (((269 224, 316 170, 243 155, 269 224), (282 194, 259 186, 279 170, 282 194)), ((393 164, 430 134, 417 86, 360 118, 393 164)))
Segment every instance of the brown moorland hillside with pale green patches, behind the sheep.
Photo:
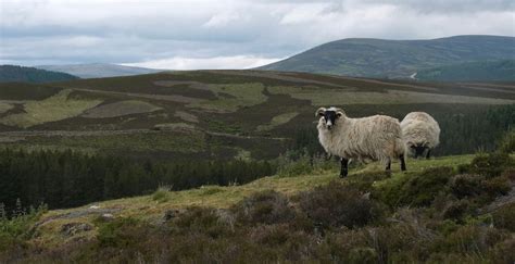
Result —
POLYGON ((491 149, 513 125, 514 91, 511 83, 425 84, 261 71, 0 84, 0 146, 163 160, 274 159, 287 148, 319 148, 313 113, 321 105, 339 105, 352 117, 402 118, 427 111, 444 127, 437 155, 470 153, 491 149))

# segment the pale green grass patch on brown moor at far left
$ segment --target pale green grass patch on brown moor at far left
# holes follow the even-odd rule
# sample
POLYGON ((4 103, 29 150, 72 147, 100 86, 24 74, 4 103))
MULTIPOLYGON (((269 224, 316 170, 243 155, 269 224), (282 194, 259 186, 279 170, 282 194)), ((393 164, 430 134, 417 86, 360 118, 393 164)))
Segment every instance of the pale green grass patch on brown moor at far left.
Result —
POLYGON ((100 104, 102 100, 72 99, 72 90, 62 90, 55 96, 41 101, 28 101, 24 103, 25 113, 11 114, 0 120, 1 124, 28 128, 35 125, 45 124, 78 116, 88 109, 100 104))

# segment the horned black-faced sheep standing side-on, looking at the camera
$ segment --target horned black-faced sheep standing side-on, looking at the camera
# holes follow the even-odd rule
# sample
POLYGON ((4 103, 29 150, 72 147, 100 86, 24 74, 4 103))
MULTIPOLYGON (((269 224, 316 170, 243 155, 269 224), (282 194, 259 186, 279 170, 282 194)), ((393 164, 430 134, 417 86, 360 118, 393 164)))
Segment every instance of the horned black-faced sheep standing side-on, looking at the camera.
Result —
POLYGON ((397 118, 374 115, 363 118, 350 118, 343 110, 319 108, 315 112, 319 117, 318 140, 328 154, 341 158, 340 177, 349 173, 349 160, 381 161, 390 174, 392 159, 401 161, 401 171, 406 171, 404 160, 405 144, 397 118))

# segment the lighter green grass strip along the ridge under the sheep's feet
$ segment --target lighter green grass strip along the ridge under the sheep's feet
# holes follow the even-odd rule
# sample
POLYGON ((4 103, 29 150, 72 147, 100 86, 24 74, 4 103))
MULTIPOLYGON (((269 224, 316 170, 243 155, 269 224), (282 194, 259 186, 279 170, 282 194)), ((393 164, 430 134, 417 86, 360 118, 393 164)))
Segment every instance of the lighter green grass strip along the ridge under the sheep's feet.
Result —
MULTIPOLYGON (((432 160, 409 160, 407 174, 399 171, 399 164, 393 164, 392 177, 376 183, 376 185, 381 185, 388 180, 398 180, 409 176, 410 173, 422 172, 429 167, 467 164, 473 158, 474 155, 456 155, 432 160)), ((377 163, 373 163, 367 166, 351 169, 349 177, 352 178, 352 176, 357 173, 378 169, 381 169, 381 166, 377 163)), ((61 228, 63 225, 70 223, 87 223, 95 226, 92 224, 93 221, 103 213, 111 213, 114 217, 130 216, 159 225, 167 210, 184 210, 194 205, 226 209, 254 192, 273 189, 286 193, 287 196, 293 196, 301 191, 310 190, 315 186, 326 185, 337 178, 337 168, 335 167, 332 171, 323 171, 296 177, 271 176, 242 186, 205 186, 192 190, 172 191, 167 192, 166 198, 161 200, 154 200, 152 196, 142 196, 104 201, 76 209, 54 210, 41 217, 37 227, 39 236, 30 239, 29 242, 51 248, 65 242, 77 241, 80 238, 92 238, 97 232, 96 229, 70 237, 61 235, 61 228), (92 205, 98 206, 98 209, 91 209, 90 206, 92 205)))

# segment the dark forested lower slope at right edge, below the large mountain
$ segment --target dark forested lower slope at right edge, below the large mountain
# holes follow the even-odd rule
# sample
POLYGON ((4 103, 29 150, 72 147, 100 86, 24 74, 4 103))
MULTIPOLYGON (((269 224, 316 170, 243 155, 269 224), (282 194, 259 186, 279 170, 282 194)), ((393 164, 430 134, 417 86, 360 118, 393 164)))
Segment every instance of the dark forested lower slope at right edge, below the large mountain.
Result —
POLYGON ((422 70, 414 78, 423 81, 514 81, 515 60, 467 62, 422 70))

